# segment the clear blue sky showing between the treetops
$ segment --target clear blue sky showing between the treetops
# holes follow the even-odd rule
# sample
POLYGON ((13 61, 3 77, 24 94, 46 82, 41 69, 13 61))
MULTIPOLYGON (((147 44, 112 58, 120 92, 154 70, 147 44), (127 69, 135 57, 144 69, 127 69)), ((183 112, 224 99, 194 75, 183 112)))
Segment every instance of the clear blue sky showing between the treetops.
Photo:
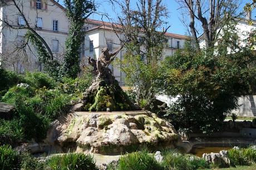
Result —
MULTIPOLYGON (((240 5, 241 9, 244 7, 246 3, 251 1, 252 0, 243 0, 240 5)), ((97 12, 108 14, 109 17, 114 19, 115 21, 117 14, 114 12, 113 7, 110 3, 108 3, 106 0, 95 0, 95 2, 97 3, 97 12)), ((166 19, 166 22, 168 22, 168 26, 170 26, 168 32, 177 34, 187 34, 186 27, 180 21, 181 14, 180 10, 178 9, 179 4, 176 2, 176 0, 163 0, 163 2, 169 12, 169 18, 166 19)), ((60 0, 60 3, 63 4, 63 1, 60 0)), ((256 10, 253 11, 253 16, 256 16, 256 10)), ((102 18, 102 16, 99 14, 93 14, 90 18, 109 21, 106 17, 102 18)))

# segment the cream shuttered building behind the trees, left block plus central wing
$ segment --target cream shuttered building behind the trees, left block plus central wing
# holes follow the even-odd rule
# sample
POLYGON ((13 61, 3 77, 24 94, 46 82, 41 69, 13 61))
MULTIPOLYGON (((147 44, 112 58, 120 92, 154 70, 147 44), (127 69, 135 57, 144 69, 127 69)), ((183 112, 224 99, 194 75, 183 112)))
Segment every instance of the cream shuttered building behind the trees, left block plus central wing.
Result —
MULTIPOLYGON (((0 62, 4 68, 18 73, 25 70, 41 71, 41 63, 38 62, 36 50, 31 44, 30 48, 26 48, 26 52, 16 48, 24 42, 27 29, 19 29, 25 25, 24 19, 12 1, 7 2, 8 6, 0 8, 0 20, 6 19, 16 29, 6 27, 3 22, 0 23, 0 30, 2 30, 0 32, 0 62)), ((65 40, 69 24, 65 8, 53 0, 24 0, 21 1, 19 7, 24 12, 29 25, 45 39, 55 57, 61 60, 62 54, 65 53, 65 40)), ((85 29, 87 33, 85 41, 81 44, 81 59, 85 59, 84 57, 87 56, 99 57, 101 49, 104 47, 109 47, 110 51, 119 48, 120 41, 112 29, 112 23, 87 19, 85 29)), ((186 36, 166 33, 166 37, 168 44, 164 49, 164 56, 172 56, 178 48, 183 48, 186 36)), ((123 54, 124 49, 117 57, 122 58, 123 54)), ((117 81, 123 84, 125 75, 116 68, 112 68, 112 70, 117 81)))

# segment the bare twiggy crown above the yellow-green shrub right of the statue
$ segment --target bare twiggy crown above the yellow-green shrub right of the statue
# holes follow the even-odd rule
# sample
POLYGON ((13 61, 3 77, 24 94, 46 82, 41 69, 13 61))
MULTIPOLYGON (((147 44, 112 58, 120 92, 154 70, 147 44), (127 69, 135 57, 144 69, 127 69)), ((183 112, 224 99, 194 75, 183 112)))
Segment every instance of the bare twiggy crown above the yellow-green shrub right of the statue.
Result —
MULTIPOLYGON (((122 15, 117 18, 117 24, 114 24, 115 31, 129 38, 137 46, 137 54, 145 54, 147 63, 155 63, 161 57, 165 43, 164 34, 169 29, 169 26, 164 28, 168 12, 163 1, 110 0, 110 2, 114 6, 118 5, 122 11, 122 15)), ((121 37, 120 39, 124 40, 121 37)))

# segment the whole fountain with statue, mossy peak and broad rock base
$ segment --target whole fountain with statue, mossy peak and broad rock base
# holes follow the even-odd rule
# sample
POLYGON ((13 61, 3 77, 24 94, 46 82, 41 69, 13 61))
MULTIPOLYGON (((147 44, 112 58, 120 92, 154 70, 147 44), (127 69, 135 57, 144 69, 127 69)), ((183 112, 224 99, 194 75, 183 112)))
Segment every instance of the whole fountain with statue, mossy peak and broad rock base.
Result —
POLYGON ((102 49, 99 59, 89 58, 95 81, 66 116, 56 120, 46 143, 67 150, 92 153, 121 153, 142 146, 174 147, 178 134, 172 124, 149 111, 141 111, 122 91, 107 67, 116 54, 102 49))

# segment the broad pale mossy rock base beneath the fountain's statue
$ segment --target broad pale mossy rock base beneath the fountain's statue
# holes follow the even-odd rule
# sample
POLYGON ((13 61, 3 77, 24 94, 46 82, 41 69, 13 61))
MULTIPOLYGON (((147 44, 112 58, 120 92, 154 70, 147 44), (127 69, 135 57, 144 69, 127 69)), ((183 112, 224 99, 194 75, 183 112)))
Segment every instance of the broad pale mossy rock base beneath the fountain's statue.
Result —
POLYGON ((154 113, 137 112, 75 112, 68 121, 56 121, 47 141, 68 148, 94 153, 124 152, 142 145, 173 146, 178 134, 169 122, 154 113))

